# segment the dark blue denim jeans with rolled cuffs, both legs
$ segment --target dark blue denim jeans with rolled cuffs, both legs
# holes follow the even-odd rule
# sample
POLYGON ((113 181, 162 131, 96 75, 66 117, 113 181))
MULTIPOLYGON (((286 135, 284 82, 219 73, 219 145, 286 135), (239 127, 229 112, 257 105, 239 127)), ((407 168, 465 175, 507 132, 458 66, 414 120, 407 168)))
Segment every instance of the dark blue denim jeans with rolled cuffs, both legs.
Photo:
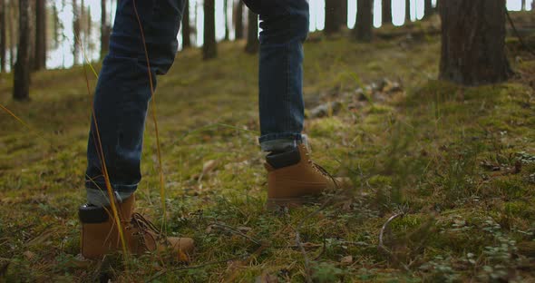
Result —
MULTIPOLYGON (((308 33, 307 0, 244 0, 260 15, 259 142, 276 151, 302 139, 303 46, 308 33)), ((119 199, 141 181, 141 150, 151 82, 170 69, 185 0, 121 0, 96 86, 85 185, 93 204, 105 204, 102 156, 119 199), (138 23, 138 17, 141 24, 138 23), (141 25, 141 27, 140 27, 141 25), (144 34, 151 65, 147 67, 144 34), (99 142, 100 141, 100 142, 99 142), (102 151, 101 151, 102 148, 102 151)), ((200 62, 199 62, 200 63, 200 62)))

